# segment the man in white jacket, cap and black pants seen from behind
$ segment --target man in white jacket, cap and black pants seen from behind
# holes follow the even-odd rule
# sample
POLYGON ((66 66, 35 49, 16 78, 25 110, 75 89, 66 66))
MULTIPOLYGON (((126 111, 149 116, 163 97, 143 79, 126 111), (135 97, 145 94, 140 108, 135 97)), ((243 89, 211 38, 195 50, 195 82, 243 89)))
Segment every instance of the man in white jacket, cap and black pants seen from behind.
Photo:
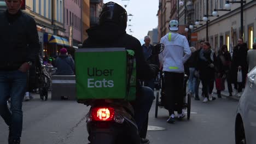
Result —
POLYGON ((182 111, 184 96, 184 63, 191 55, 188 40, 184 35, 178 34, 179 23, 177 20, 169 22, 170 32, 161 38, 160 43, 165 45, 165 49, 159 55, 160 67, 165 74, 166 107, 170 118, 168 123, 175 122, 174 109, 178 111, 178 118, 185 117, 182 111), (176 107, 174 107, 177 103, 176 107))

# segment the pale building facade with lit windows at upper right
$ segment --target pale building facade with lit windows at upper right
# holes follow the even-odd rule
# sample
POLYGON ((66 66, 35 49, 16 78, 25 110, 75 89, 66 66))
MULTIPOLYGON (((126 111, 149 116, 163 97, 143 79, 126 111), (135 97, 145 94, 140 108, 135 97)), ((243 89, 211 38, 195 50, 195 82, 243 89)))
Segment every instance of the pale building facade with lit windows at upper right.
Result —
MULTIPOLYGON (((195 7, 195 19, 202 20, 202 17, 206 14, 211 15, 214 9, 225 9, 225 1, 208 1, 208 9, 206 9, 207 2, 205 0, 196 0, 194 2, 195 7)), ((232 47, 237 45, 237 39, 243 38, 247 43, 248 48, 252 49, 252 44, 256 42, 254 33, 256 27, 256 1, 246 0, 243 5, 243 34, 241 35, 241 4, 231 4, 231 11, 218 11, 218 17, 208 17, 208 40, 211 43, 212 48, 218 51, 222 45, 227 45, 230 52, 232 47)), ((194 29, 194 32, 198 33, 199 40, 206 39, 206 22, 202 22, 202 26, 198 26, 194 29)))

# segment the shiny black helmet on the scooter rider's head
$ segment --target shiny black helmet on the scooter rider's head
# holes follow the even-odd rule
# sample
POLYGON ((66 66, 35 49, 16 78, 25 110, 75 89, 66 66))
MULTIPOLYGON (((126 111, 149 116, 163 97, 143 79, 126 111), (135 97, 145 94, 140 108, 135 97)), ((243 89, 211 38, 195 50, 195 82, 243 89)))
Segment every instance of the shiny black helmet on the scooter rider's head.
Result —
POLYGON ((127 25, 127 12, 121 5, 108 2, 103 5, 100 18, 100 25, 105 22, 114 22, 117 25, 126 28, 127 25))

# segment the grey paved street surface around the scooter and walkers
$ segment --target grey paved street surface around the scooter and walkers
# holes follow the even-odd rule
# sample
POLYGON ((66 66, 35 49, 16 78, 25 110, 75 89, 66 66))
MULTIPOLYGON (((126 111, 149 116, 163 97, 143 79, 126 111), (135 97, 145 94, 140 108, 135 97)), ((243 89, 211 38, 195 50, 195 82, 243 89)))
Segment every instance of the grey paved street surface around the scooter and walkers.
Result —
MULTIPOLYGON (((167 111, 159 109, 154 118, 155 101, 150 111, 149 125, 165 128, 148 131, 151 143, 211 144, 234 143, 234 123, 237 101, 217 99, 210 103, 192 100, 191 120, 166 123, 167 111)), ((71 144, 88 143, 85 115, 89 110, 75 101, 40 101, 38 97, 24 102, 24 131, 21 143, 71 144)), ((8 127, 0 118, 0 143, 7 143, 8 127)))

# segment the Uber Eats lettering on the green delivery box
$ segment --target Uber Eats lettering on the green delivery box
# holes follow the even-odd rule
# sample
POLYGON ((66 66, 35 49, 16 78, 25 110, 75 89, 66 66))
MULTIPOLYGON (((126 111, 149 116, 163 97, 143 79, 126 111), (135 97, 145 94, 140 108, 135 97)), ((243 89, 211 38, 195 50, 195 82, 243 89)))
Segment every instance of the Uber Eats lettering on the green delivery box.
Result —
MULTIPOLYGON (((87 75, 88 77, 102 77, 102 76, 108 76, 109 78, 113 75, 113 69, 97 69, 97 68, 87 68, 87 75)), ((114 87, 114 81, 108 80, 108 79, 102 79, 102 80, 95 80, 93 78, 88 79, 88 88, 94 88, 94 87, 114 87)))

